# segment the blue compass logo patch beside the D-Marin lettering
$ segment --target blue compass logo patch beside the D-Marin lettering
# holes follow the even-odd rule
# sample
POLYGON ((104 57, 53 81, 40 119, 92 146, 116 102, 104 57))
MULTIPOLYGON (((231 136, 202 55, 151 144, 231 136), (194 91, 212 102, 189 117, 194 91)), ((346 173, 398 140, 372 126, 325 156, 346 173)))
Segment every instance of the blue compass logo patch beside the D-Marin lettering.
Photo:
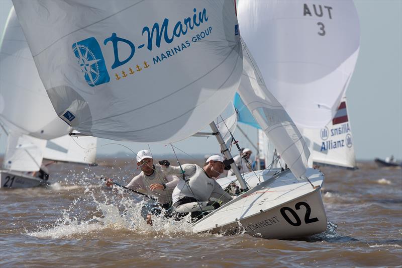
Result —
POLYGON ((106 68, 104 55, 100 50, 99 43, 94 37, 89 37, 72 45, 75 57, 81 71, 84 73, 85 81, 90 86, 107 83, 110 81, 106 68))

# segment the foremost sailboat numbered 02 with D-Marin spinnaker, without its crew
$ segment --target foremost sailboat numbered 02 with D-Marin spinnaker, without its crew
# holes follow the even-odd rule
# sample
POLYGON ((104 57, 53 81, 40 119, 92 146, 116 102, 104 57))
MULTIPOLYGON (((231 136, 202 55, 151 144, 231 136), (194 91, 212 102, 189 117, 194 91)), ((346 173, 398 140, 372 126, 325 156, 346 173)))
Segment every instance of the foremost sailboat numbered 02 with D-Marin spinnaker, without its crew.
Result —
POLYGON ((290 170, 244 180, 232 162, 250 190, 194 232, 241 225, 264 238, 297 238, 325 230, 324 175, 306 168, 306 142, 241 42, 234 2, 13 3, 56 113, 85 135, 172 143, 209 124, 231 161, 213 120, 239 92, 290 170))

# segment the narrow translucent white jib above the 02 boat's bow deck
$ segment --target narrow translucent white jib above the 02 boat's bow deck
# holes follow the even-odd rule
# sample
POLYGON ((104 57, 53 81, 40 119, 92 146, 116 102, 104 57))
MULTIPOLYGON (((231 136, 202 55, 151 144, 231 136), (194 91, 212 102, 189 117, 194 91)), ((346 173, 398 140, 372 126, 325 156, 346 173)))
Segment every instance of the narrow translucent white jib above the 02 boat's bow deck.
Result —
POLYGON ((243 74, 238 93, 293 174, 305 177, 309 148, 285 109, 267 90, 244 40, 242 46, 243 74))

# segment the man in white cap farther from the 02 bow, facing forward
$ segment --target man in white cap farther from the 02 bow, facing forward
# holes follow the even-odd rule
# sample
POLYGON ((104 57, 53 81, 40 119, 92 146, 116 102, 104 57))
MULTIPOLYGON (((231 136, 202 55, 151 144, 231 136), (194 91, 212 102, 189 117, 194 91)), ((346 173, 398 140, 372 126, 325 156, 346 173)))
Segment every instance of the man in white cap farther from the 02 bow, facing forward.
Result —
MULTIPOLYGON (((160 214, 161 209, 165 209, 165 216, 171 216, 172 192, 179 182, 179 178, 174 174, 168 174, 167 160, 153 163, 152 154, 148 150, 141 150, 137 153, 137 166, 141 168, 141 173, 135 176, 126 186, 132 190, 145 190, 147 194, 158 200, 157 207, 144 205, 141 214, 148 224, 152 225, 151 214, 160 214)), ((113 180, 109 178, 106 182, 108 187, 113 186, 113 180)))

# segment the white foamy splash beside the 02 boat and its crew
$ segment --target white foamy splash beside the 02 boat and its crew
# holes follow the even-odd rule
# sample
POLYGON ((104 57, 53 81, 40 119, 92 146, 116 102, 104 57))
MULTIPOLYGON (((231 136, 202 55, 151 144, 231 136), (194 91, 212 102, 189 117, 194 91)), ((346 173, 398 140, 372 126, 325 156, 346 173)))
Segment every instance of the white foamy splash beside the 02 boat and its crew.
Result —
MULTIPOLYGON (((65 190, 65 186, 61 187, 65 190)), ((121 195, 115 196, 112 192, 104 193, 101 191, 105 197, 105 201, 101 202, 95 198, 90 186, 82 187, 85 187, 83 196, 75 199, 68 210, 62 211, 61 218, 52 227, 27 232, 27 234, 39 238, 62 238, 76 235, 84 236, 105 229, 125 230, 135 233, 157 232, 159 235, 169 236, 192 233, 190 224, 186 222, 187 218, 177 221, 163 217, 162 213, 161 216, 152 216, 153 226, 150 226, 141 216, 144 201, 136 203, 133 199, 122 198, 121 195), (81 202, 93 202, 96 205, 96 211, 91 211, 84 215, 85 218, 92 218, 91 220, 83 221, 70 216, 70 214, 75 215, 74 212, 79 210, 81 202), (122 208, 124 213, 122 213, 122 208), (94 213, 99 215, 99 212, 102 213, 102 216, 97 217, 94 215, 94 213)))

